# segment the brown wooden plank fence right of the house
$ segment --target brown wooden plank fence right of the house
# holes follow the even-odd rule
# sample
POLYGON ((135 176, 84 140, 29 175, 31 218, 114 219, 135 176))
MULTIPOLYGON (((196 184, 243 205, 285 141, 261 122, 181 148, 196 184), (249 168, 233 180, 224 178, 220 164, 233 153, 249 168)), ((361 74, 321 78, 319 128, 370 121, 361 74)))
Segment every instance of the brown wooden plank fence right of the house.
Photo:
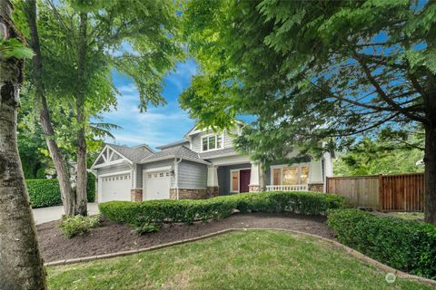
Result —
POLYGON ((354 207, 382 211, 422 211, 424 174, 327 178, 326 191, 348 198, 354 207))

